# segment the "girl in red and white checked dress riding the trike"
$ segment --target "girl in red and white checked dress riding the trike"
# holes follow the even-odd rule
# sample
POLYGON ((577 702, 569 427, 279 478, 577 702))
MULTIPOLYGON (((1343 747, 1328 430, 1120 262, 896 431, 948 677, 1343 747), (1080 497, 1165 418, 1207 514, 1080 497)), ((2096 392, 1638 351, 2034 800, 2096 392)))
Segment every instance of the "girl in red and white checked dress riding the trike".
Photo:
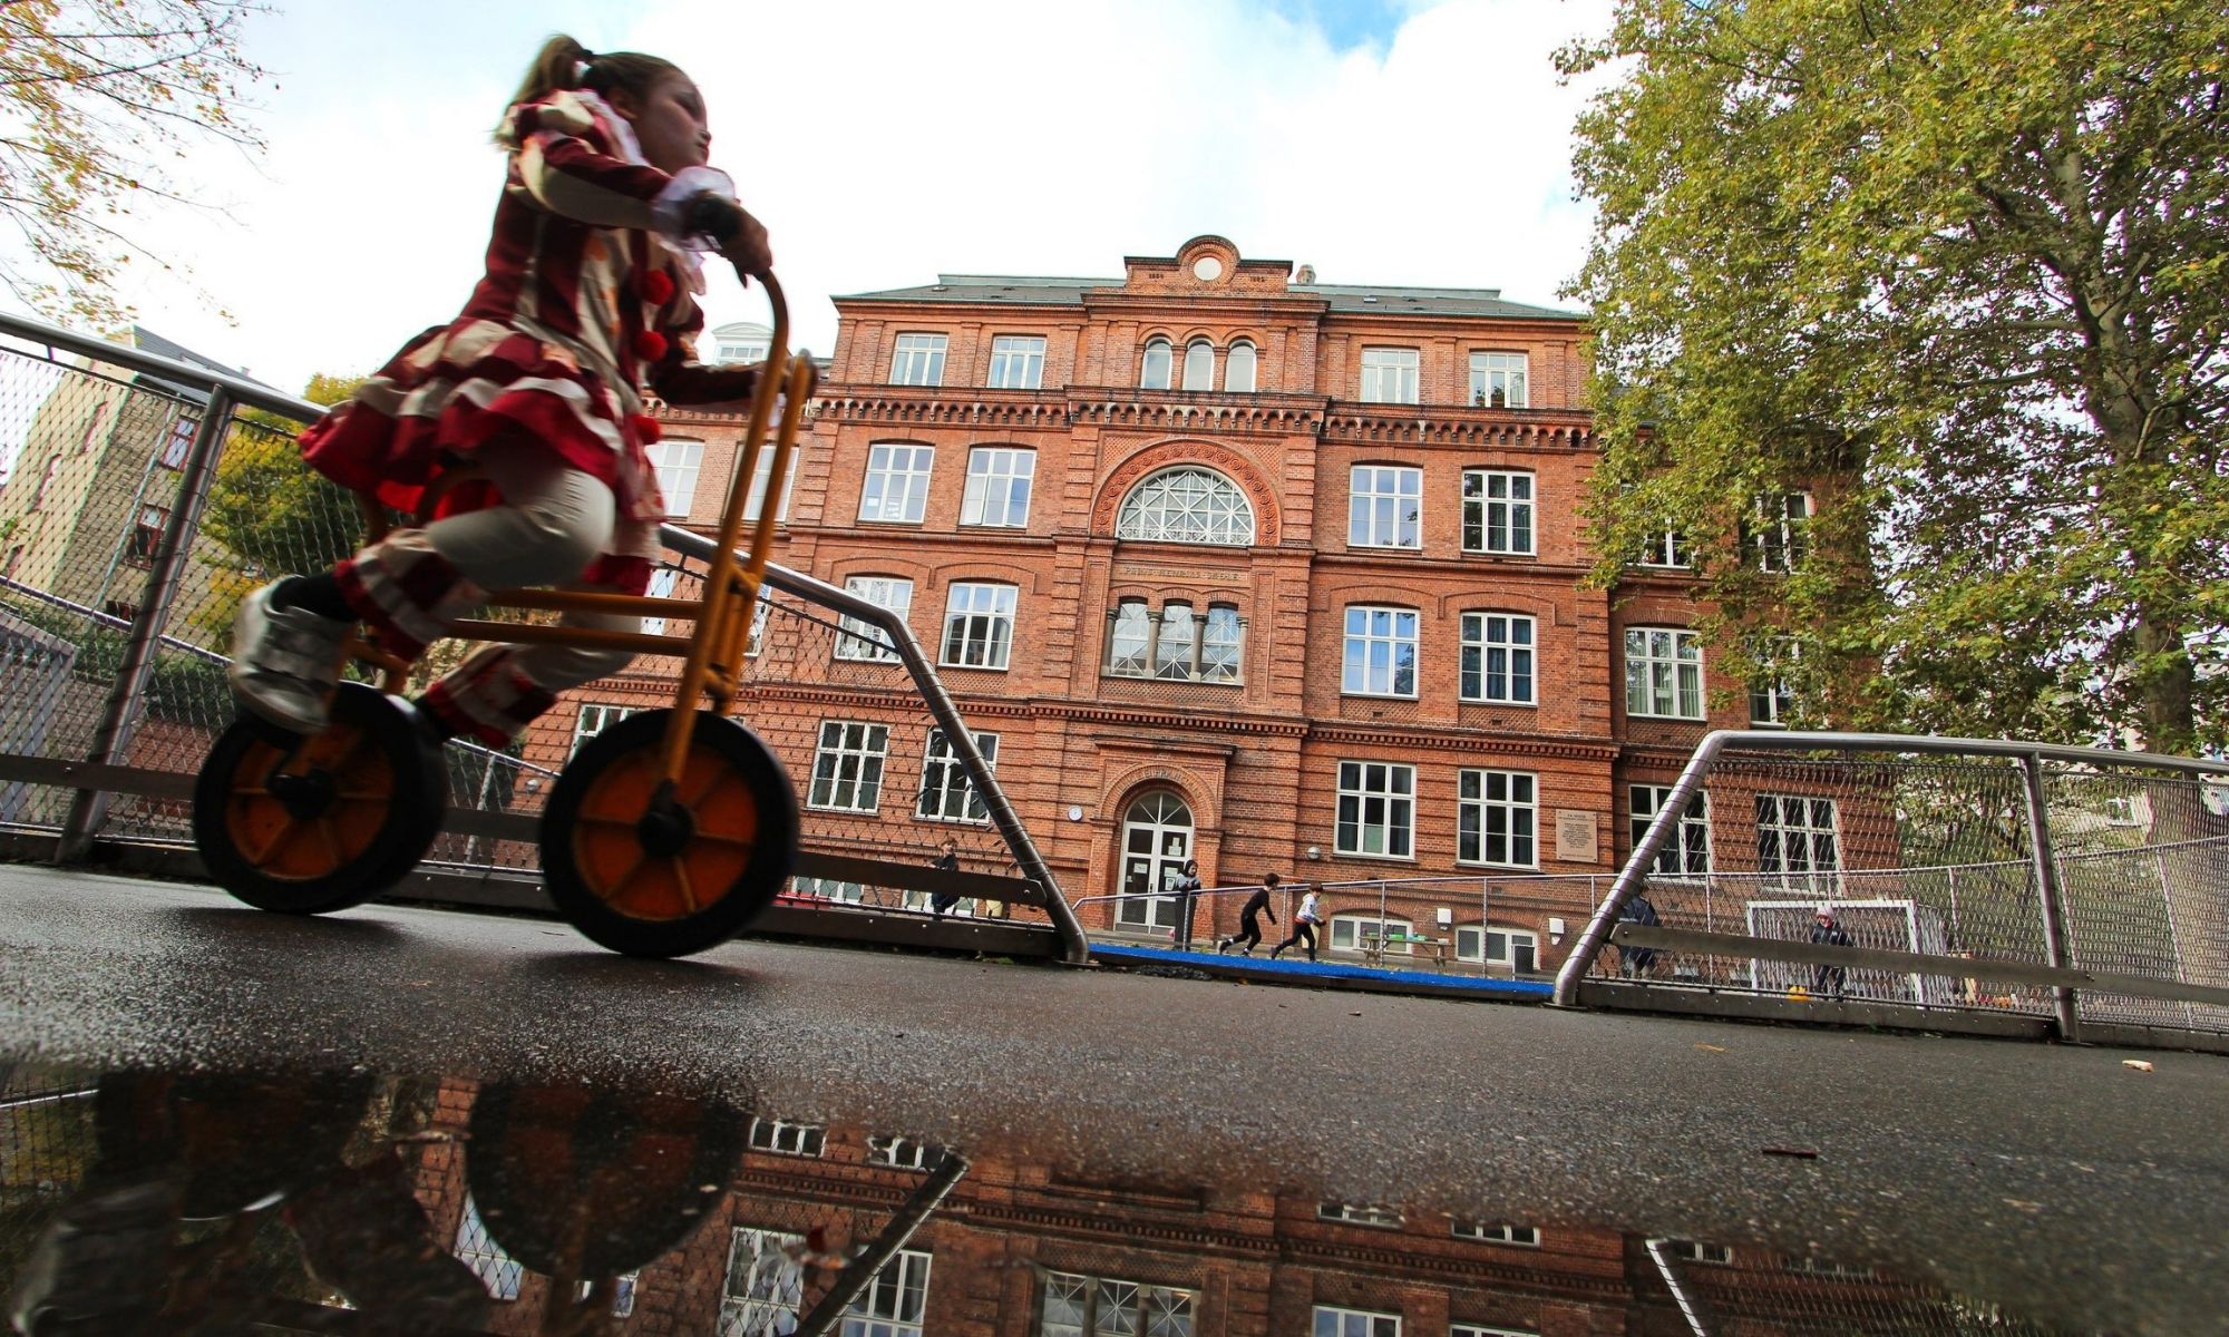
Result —
MULTIPOLYGON (((301 432, 312 468, 403 513, 455 468, 481 470, 493 495, 459 488, 426 528, 247 597, 234 619, 232 686, 283 729, 325 726, 339 646, 357 622, 415 660, 488 591, 640 595, 666 517, 644 450, 658 441, 644 392, 727 403, 756 388, 758 368, 695 361, 698 252, 751 274, 773 258, 736 185, 707 167, 704 98, 680 67, 635 51, 595 56, 555 36, 495 140, 510 163, 473 299, 301 432)), ((642 626, 606 613, 564 622, 642 626)), ((432 735, 502 746, 557 693, 631 657, 484 646, 417 704, 432 735)))

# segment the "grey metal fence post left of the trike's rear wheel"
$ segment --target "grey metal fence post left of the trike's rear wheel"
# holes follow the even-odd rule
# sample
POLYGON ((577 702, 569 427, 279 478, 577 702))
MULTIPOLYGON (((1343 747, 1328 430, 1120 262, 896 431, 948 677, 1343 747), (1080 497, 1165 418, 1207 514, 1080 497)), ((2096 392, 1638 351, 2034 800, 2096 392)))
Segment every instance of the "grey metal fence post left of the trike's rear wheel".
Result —
MULTIPOLYGON (((201 533, 201 510, 210 499, 210 481, 216 477, 216 457, 223 452, 225 432, 232 428, 232 394, 223 386, 210 390, 210 403, 201 410, 201 426, 185 455, 185 470, 178 479, 178 504, 169 508, 163 537, 154 548, 154 566, 147 573, 147 595, 132 615, 132 631, 125 633, 125 657, 109 684, 109 700, 100 709, 94 729, 94 746, 87 760, 105 767, 120 767, 132 753, 132 735, 147 713, 147 682, 154 677, 154 657, 163 644, 163 628, 169 624, 172 604, 178 602, 178 577, 194 553, 194 535, 201 533)), ((62 822, 62 838, 56 845, 53 862, 82 862, 94 849, 94 833, 109 816, 109 793, 103 789, 80 789, 69 800, 69 818, 62 822)))

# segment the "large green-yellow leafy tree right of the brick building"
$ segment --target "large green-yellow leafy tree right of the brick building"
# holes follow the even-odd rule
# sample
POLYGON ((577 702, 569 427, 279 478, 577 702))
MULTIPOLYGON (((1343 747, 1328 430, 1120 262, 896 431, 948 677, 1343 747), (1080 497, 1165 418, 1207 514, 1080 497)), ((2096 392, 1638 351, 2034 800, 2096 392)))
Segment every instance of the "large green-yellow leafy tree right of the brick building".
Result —
POLYGON ((1620 0, 1563 53, 1596 577, 1683 533, 1808 722, 2220 744, 2225 53, 2220 0, 1620 0))

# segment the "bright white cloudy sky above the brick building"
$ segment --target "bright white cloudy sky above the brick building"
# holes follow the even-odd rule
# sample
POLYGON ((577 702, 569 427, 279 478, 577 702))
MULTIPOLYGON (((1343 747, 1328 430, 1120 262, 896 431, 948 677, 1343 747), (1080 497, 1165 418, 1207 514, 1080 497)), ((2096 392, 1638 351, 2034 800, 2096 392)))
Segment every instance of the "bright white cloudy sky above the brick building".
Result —
MULTIPOLYGON (((140 321, 299 390, 448 321, 479 274, 504 98, 551 31, 673 58, 773 236, 798 336, 934 274, 1119 276, 1215 232, 1324 283, 1558 303, 1587 238, 1549 53, 1607 0, 274 0, 245 33, 267 152, 181 167, 196 290, 140 321), (232 314, 227 323, 214 308, 232 314)), ((760 319, 720 274, 718 321, 760 319)))

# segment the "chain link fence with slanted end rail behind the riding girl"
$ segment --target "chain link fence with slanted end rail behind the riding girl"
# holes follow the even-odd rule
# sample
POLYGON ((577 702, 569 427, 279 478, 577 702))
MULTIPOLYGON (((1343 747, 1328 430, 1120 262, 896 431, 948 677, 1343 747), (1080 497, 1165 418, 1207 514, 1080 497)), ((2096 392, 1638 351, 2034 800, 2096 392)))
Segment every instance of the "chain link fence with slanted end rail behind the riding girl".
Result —
MULTIPOLYGON (((250 394, 259 390, 250 381, 138 330, 129 350, 18 319, 0 319, 0 332, 16 336, 0 345, 0 829, 60 831, 65 856, 96 829, 105 840, 185 842, 187 778, 234 720, 225 648, 241 599, 352 553, 359 504, 301 463, 296 432, 314 406, 250 394), (27 330, 42 341, 25 341, 27 330), (196 365, 207 372, 194 374, 196 365), (236 410, 234 392, 265 408, 236 410), (214 419, 210 430, 203 419, 214 419), (156 622, 160 635, 149 637, 156 622), (143 691, 120 693, 136 675, 143 691), (58 767, 25 764, 87 758, 176 782, 100 793, 89 809, 87 791, 56 780, 58 767)), ((702 570, 702 553, 673 557, 653 593, 691 597, 702 570)), ((956 713, 938 718, 932 695, 943 700, 943 689, 925 660, 905 662, 878 613, 847 613, 843 591, 780 570, 769 582, 738 713, 798 784, 802 851, 831 856, 807 858, 787 900, 1032 925, 1063 914, 1012 809, 996 820, 1003 798, 985 798, 974 755, 954 746, 947 724, 965 726, 956 713), (901 869, 932 867, 1036 882, 1030 900, 1057 909, 894 885, 912 880, 901 869)), ((430 682, 468 651, 432 646, 412 682, 430 682)), ((573 693, 506 751, 450 742, 450 807, 537 816, 586 738, 671 704, 678 668, 637 660, 573 693)), ((994 769, 996 731, 970 738, 994 769)), ((537 874, 524 827, 450 827, 428 869, 537 874)), ((1068 936, 1079 951, 1081 936, 1068 936)))

